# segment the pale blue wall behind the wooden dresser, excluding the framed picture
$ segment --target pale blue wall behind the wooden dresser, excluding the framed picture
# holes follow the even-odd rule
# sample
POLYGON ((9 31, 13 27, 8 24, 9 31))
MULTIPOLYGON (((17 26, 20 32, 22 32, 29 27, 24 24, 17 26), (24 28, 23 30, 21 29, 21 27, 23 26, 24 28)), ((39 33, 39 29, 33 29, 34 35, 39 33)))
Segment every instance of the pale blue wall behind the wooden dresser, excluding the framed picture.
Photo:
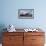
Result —
POLYGON ((46 31, 46 0, 0 0, 0 8, 0 25, 40 27, 46 31), (18 19, 18 9, 34 9, 34 19, 18 19))

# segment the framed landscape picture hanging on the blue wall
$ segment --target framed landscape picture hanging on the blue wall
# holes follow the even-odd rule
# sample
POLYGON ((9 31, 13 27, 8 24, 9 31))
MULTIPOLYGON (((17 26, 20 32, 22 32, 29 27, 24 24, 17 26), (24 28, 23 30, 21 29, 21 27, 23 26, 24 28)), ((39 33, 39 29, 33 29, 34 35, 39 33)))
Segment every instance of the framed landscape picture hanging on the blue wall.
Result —
POLYGON ((34 18, 34 9, 19 9, 18 17, 20 19, 33 19, 34 18))

